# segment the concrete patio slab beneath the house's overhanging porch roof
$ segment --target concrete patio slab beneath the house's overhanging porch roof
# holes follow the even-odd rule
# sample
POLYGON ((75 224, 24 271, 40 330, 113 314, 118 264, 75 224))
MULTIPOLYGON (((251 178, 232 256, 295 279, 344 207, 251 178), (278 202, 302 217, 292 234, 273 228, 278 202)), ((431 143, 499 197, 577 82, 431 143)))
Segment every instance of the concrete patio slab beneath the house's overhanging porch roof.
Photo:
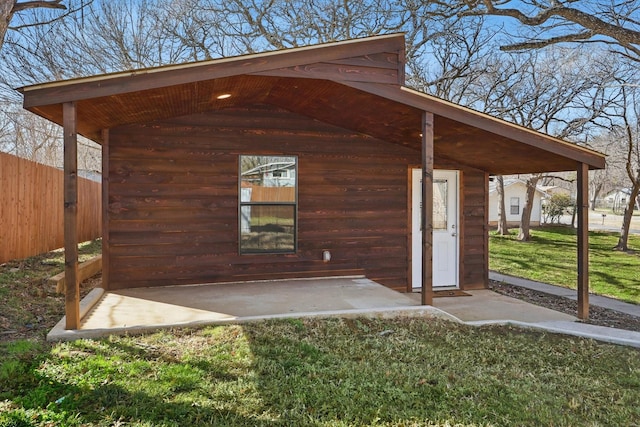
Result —
POLYGON ((489 290, 438 297, 393 291, 364 276, 133 288, 94 289, 82 302, 81 327, 65 330, 63 318, 50 341, 152 332, 174 327, 299 317, 441 317, 451 320, 573 321, 572 316, 489 290))

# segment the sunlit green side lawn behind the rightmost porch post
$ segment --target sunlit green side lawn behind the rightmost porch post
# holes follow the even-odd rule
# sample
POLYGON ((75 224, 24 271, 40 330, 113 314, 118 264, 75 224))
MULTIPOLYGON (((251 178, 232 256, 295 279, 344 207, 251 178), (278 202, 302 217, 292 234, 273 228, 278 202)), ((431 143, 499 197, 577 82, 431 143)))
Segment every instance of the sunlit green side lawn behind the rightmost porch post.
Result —
MULTIPOLYGON (((489 268, 567 288, 576 288, 576 231, 570 227, 542 227, 532 231, 531 242, 515 235, 489 236, 489 268)), ((591 292, 640 304, 640 252, 623 253, 612 248, 618 234, 589 233, 591 292)), ((640 249, 640 236, 629 238, 629 247, 640 249)))

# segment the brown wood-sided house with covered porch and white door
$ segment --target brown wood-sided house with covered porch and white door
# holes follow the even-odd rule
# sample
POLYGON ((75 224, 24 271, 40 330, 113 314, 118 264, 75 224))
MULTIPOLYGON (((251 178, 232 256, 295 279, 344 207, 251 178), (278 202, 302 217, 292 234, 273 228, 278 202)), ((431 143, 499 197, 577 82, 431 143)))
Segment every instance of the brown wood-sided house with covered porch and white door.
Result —
MULTIPOLYGON (((576 171, 586 197, 604 157, 405 87, 404 49, 394 34, 21 90, 66 148, 76 132, 103 147, 107 291, 358 273, 428 304, 488 286, 489 175, 576 171), (295 163, 293 191, 244 194, 254 157, 295 163)), ((68 329, 78 303, 67 286, 68 329)))

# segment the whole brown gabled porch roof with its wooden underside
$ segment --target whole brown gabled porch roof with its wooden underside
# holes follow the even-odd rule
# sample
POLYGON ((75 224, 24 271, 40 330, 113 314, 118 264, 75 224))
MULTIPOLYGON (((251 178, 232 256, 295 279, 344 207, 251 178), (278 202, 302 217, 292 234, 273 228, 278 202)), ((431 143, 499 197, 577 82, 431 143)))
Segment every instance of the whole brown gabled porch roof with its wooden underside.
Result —
POLYGON ((604 156, 404 87, 404 36, 393 34, 21 88, 25 108, 62 124, 77 105, 78 132, 269 104, 421 151, 434 114, 434 157, 492 174, 604 168, 604 156), (231 97, 218 99, 219 95, 231 97))

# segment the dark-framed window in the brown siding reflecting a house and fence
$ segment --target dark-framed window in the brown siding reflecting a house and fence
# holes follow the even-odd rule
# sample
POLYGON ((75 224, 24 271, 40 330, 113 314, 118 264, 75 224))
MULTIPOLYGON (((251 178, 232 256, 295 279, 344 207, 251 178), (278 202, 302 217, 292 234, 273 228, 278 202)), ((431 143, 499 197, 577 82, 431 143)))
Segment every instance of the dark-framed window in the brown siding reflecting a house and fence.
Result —
POLYGON ((294 253, 298 158, 240 156, 240 253, 294 253))

